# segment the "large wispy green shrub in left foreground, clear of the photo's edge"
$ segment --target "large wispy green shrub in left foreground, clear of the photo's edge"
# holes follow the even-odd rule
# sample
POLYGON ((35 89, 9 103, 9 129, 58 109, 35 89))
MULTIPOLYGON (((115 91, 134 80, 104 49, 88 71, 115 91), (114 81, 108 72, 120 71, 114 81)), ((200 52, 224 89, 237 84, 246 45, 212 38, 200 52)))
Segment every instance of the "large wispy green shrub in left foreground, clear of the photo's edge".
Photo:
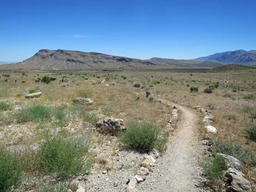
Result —
POLYGON ((85 135, 65 137, 64 134, 46 135, 39 146, 40 165, 45 174, 60 178, 86 174, 90 168, 89 140, 85 135))

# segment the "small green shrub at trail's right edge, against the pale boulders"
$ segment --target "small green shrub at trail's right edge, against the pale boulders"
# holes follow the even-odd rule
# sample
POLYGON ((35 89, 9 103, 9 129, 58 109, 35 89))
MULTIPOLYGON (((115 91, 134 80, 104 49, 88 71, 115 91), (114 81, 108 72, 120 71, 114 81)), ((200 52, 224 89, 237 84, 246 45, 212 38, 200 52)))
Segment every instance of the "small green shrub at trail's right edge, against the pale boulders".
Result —
POLYGON ((224 176, 224 171, 227 170, 225 157, 216 155, 214 159, 206 159, 203 163, 203 169, 206 177, 211 182, 216 182, 217 179, 221 179, 224 176))

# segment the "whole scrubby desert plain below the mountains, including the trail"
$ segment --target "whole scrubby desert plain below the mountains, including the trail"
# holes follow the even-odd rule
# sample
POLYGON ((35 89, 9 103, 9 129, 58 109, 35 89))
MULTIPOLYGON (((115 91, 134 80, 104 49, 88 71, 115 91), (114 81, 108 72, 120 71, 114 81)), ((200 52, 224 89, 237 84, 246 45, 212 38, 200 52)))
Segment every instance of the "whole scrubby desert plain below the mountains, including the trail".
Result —
POLYGON ((1 71, 1 190, 255 191, 256 70, 225 66, 1 71))

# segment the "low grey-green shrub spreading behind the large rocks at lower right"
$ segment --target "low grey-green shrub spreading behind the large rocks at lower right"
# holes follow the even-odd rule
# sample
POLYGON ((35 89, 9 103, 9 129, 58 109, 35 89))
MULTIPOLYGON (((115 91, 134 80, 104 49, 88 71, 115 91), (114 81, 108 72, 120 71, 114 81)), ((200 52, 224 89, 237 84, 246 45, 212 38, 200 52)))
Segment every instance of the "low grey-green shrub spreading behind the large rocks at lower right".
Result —
POLYGON ((212 151, 215 154, 223 153, 234 156, 249 165, 256 165, 256 154, 254 154, 251 150, 245 149, 242 146, 234 143, 225 143, 217 140, 215 145, 212 147, 212 151))

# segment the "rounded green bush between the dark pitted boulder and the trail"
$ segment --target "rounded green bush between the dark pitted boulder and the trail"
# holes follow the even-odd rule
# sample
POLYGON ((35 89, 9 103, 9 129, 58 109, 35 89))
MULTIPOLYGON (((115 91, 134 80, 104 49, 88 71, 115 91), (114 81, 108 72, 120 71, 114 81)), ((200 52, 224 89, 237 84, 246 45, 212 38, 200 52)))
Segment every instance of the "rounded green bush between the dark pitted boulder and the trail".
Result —
POLYGON ((153 148, 162 151, 166 144, 160 128, 150 121, 131 122, 120 134, 120 140, 130 148, 143 152, 150 152, 153 148))

